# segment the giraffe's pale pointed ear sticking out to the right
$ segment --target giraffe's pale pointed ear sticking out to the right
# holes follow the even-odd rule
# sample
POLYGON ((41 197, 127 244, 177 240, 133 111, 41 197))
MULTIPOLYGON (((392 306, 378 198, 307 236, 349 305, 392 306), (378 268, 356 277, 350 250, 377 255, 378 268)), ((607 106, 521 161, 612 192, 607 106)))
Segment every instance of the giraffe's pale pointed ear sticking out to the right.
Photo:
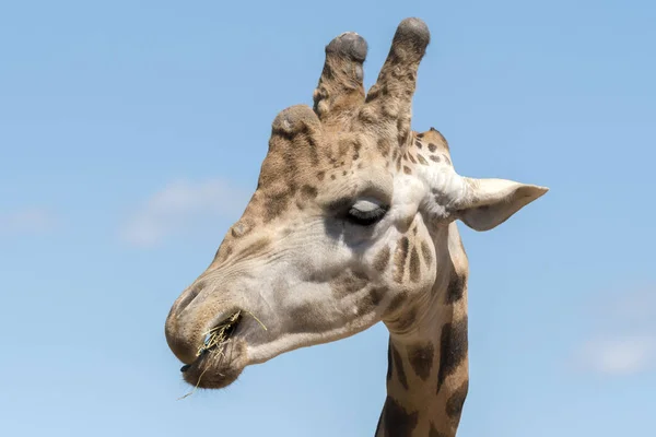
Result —
POLYGON ((538 199, 549 188, 505 179, 470 179, 467 199, 460 202, 456 217, 475 231, 490 231, 538 199))

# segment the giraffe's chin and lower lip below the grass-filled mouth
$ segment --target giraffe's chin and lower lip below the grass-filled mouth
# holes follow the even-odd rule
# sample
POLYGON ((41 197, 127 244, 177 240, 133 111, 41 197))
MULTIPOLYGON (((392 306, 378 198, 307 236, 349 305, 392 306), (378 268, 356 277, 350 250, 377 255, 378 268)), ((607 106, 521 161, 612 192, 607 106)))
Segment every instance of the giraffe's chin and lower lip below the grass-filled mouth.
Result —
POLYGON ((222 389, 233 383, 246 367, 246 344, 231 339, 225 344, 202 353, 181 368, 183 378, 201 389, 222 389))

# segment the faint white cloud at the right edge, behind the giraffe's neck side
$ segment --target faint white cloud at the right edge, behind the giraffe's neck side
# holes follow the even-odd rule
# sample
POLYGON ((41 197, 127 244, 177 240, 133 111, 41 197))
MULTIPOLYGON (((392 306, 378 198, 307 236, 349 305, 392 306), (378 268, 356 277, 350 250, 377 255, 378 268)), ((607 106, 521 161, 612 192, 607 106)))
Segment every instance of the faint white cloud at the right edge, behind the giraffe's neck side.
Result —
POLYGON ((577 351, 586 371, 607 376, 656 369, 656 293, 607 296, 594 310, 594 336, 577 351), (608 298, 609 297, 609 298, 608 298))

